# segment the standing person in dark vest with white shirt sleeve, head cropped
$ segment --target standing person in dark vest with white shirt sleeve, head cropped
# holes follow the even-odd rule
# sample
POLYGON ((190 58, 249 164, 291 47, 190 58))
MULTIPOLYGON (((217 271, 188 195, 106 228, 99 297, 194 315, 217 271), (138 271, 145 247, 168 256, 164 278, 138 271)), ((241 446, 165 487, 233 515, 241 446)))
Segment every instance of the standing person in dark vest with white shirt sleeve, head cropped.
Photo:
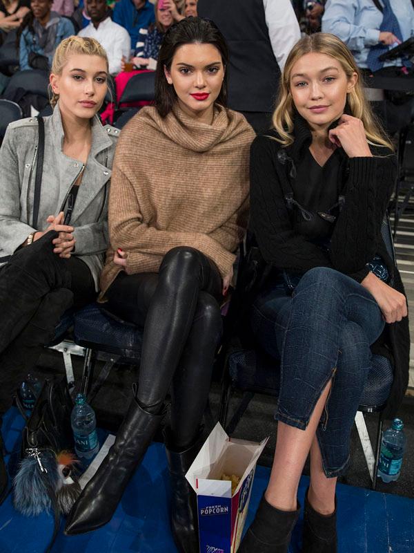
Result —
POLYGON ((215 22, 230 48, 228 106, 256 132, 267 131, 280 71, 300 38, 290 0, 198 0, 197 12, 215 22))

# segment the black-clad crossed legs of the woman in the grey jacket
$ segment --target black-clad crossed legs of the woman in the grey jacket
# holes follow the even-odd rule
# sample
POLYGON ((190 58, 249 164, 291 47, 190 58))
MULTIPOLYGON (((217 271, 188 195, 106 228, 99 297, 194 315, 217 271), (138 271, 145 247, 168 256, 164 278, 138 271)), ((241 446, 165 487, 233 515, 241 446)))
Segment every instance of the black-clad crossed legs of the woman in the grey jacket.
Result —
POLYGON ((63 312, 96 297, 88 265, 53 253, 56 236, 48 232, 0 268, 0 414, 52 340, 63 312))

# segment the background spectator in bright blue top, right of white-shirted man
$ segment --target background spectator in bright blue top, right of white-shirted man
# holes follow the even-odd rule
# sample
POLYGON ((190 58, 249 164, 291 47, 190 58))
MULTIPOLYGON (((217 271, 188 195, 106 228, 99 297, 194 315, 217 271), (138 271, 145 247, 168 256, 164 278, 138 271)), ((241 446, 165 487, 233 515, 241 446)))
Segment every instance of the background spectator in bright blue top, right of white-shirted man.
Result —
POLYGON ((131 48, 135 49, 137 42, 142 42, 139 36, 141 28, 148 29, 150 24, 155 23, 154 6, 149 0, 119 0, 112 19, 126 28, 131 37, 131 48))

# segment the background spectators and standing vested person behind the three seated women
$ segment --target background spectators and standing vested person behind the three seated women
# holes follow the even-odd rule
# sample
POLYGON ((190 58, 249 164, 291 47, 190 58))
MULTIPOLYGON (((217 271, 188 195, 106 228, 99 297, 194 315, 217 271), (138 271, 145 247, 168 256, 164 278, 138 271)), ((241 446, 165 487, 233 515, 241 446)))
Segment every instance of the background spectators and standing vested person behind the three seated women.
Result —
MULTIPOLYGON (((363 73, 411 72, 407 59, 378 58, 414 35, 413 0, 0 0, 0 94, 18 71, 48 71, 60 42, 77 34, 97 39, 106 50, 118 95, 132 76, 156 70, 166 30, 197 15, 215 21, 228 40, 229 106, 258 132, 270 126, 280 72, 301 35, 336 35, 363 73)), ((7 92, 4 97, 19 103, 7 92)), ((410 104, 408 95, 403 100, 410 104)), ((398 103, 404 101, 399 97, 398 103)), ((391 106, 396 126, 410 110, 411 104, 391 106)), ((104 120, 112 122, 112 115, 106 112, 104 120)))

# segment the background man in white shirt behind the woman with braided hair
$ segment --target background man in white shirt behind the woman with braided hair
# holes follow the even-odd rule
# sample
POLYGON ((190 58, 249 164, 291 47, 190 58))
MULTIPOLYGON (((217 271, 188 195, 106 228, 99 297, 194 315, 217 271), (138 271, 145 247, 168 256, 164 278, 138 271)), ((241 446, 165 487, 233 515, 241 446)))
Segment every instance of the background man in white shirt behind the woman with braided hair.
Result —
POLYGON ((106 0, 86 0, 90 24, 79 31, 79 37, 92 37, 105 48, 108 55, 109 73, 117 75, 121 71, 121 60, 128 59, 131 39, 128 31, 110 19, 106 0))

